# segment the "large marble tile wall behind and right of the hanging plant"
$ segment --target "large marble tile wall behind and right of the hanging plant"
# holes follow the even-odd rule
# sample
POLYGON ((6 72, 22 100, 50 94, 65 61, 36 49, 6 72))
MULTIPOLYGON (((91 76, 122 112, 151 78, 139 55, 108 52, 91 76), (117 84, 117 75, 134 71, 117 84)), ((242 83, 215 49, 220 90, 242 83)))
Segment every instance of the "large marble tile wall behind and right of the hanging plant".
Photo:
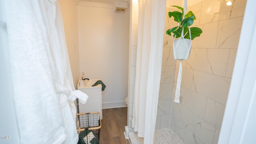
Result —
POLYGON ((203 0, 188 7, 196 14, 193 26, 203 33, 182 62, 181 103, 171 104, 170 128, 184 144, 218 143, 246 5, 232 2, 203 0))

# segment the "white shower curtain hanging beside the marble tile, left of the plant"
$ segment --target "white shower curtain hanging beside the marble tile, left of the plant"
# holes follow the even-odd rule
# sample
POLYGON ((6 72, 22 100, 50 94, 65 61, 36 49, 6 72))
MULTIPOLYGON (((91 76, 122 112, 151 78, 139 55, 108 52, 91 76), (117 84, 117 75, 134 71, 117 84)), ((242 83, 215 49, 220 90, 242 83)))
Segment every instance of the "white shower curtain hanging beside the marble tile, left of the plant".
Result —
POLYGON ((166 0, 139 0, 132 127, 153 144, 160 87, 166 0))

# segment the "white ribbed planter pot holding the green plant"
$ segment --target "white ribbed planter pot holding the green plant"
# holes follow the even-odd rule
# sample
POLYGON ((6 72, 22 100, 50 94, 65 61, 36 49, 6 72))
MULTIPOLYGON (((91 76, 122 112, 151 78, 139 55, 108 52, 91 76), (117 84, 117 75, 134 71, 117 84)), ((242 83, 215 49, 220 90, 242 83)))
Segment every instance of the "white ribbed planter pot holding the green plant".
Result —
POLYGON ((174 59, 176 60, 188 60, 188 57, 190 55, 190 51, 191 51, 191 40, 190 39, 181 39, 181 38, 177 38, 174 40, 174 44, 173 44, 173 50, 174 52, 174 59), (180 42, 178 42, 180 40, 180 42), (186 42, 186 44, 185 44, 186 42), (188 46, 188 49, 186 47, 186 45, 188 46), (176 48, 176 49, 175 49, 176 48), (188 54, 188 57, 186 58, 188 54))

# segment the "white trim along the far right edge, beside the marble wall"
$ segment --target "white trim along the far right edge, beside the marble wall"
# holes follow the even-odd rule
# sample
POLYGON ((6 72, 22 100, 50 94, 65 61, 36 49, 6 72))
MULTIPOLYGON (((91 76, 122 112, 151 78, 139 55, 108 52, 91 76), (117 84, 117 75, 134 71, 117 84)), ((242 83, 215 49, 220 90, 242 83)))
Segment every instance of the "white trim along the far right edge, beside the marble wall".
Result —
POLYGON ((247 0, 218 144, 256 143, 256 1, 247 0))

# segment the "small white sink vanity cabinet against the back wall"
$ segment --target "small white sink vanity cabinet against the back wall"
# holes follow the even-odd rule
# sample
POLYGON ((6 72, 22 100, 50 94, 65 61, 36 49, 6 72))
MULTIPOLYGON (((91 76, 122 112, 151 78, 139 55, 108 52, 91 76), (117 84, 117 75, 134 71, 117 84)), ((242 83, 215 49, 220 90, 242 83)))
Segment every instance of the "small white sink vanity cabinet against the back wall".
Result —
POLYGON ((84 92, 89 97, 86 104, 78 102, 78 108, 79 113, 100 112, 102 119, 102 85, 92 86, 98 80, 100 79, 85 80, 83 86, 80 86, 78 82, 78 90, 84 92))

